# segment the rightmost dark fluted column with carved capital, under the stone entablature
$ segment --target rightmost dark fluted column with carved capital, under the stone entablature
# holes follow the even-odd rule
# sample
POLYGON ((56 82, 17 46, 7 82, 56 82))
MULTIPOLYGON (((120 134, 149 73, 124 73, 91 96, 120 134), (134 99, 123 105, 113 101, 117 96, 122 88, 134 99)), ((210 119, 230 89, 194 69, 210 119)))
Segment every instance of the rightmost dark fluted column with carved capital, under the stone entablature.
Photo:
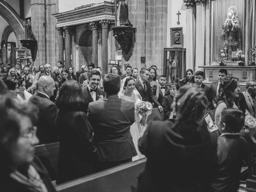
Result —
POLYGON ((108 74, 108 20, 101 20, 102 26, 102 74, 108 74))

